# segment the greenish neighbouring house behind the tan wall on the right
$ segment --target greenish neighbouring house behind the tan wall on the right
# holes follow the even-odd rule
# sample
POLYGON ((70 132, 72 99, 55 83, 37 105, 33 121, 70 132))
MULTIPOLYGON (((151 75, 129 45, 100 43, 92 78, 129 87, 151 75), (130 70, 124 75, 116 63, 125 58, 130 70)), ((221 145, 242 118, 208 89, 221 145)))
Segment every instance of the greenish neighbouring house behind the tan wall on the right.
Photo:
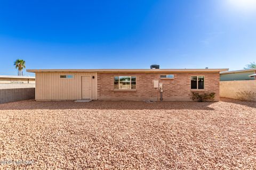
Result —
POLYGON ((220 72, 220 81, 256 80, 256 69, 220 72))

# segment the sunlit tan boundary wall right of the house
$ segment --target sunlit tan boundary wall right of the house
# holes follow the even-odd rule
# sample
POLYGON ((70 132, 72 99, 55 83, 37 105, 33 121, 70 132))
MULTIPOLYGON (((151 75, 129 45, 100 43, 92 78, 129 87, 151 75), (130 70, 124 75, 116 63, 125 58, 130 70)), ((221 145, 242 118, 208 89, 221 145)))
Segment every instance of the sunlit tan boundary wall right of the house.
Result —
POLYGON ((220 81, 220 97, 256 101, 256 80, 220 81))

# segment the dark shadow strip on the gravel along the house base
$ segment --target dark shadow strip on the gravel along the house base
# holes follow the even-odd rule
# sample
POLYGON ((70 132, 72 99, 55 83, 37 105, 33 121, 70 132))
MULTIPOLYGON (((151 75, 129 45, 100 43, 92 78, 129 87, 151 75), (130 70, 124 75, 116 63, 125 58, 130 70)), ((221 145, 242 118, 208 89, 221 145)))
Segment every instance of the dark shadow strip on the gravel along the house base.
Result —
POLYGON ((205 110, 213 111, 209 105, 214 102, 198 103, 195 101, 155 101, 147 103, 145 101, 111 101, 93 100, 89 103, 76 103, 74 101, 35 101, 22 100, 12 103, 0 104, 0 110, 27 110, 27 109, 114 109, 114 110, 205 110))

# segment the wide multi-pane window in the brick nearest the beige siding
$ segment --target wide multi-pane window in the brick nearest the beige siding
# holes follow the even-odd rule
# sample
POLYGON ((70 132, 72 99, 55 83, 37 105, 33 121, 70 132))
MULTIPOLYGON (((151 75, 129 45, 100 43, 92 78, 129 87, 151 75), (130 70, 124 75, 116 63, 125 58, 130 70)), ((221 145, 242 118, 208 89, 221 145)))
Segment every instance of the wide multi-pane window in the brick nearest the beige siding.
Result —
POLYGON ((115 76, 114 89, 116 90, 136 89, 136 77, 135 76, 115 76))

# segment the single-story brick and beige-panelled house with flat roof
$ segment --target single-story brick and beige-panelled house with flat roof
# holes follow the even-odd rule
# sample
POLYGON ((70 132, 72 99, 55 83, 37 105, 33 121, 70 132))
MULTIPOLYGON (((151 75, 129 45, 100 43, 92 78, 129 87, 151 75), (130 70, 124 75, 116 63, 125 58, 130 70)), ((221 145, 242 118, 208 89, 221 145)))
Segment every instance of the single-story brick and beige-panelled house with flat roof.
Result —
POLYGON ((36 74, 37 101, 191 100, 192 92, 215 92, 228 69, 62 69, 27 70, 36 74), (159 86, 158 86, 159 85, 159 86))

